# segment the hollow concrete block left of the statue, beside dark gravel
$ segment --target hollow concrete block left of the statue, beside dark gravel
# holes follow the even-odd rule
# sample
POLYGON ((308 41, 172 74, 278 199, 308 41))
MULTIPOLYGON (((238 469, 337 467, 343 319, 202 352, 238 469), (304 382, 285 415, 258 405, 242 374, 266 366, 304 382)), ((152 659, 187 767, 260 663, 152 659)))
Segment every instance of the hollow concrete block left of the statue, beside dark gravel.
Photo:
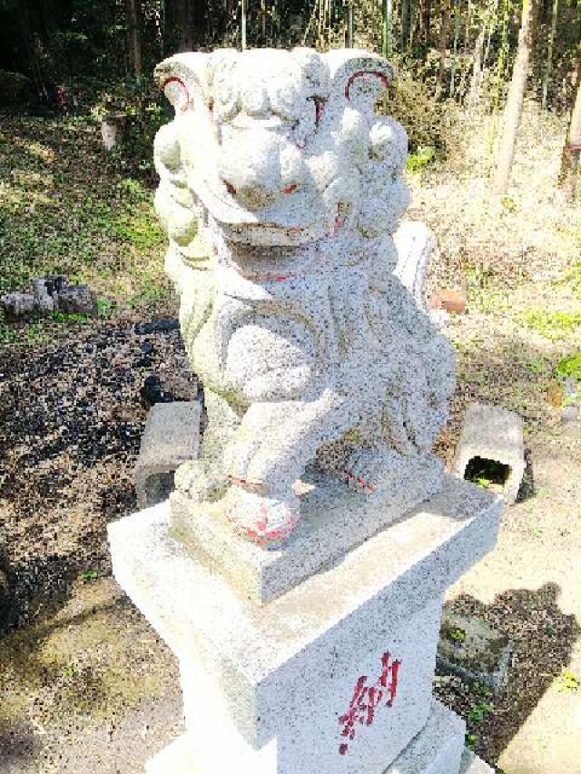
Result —
POLYGON ((156 403, 143 431, 135 464, 135 491, 140 508, 165 500, 179 465, 198 456, 201 405, 198 401, 156 403))

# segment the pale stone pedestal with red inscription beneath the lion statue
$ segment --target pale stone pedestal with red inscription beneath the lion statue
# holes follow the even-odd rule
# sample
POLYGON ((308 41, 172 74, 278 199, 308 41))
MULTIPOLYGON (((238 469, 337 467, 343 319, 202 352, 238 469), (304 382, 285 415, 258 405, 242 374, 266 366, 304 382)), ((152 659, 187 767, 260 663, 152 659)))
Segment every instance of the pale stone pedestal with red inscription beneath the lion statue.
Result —
POLYGON ((114 575, 181 667, 187 732, 150 774, 458 774, 463 723, 431 696, 441 601, 500 510, 448 477, 266 604, 175 540, 168 503, 111 524, 114 575))

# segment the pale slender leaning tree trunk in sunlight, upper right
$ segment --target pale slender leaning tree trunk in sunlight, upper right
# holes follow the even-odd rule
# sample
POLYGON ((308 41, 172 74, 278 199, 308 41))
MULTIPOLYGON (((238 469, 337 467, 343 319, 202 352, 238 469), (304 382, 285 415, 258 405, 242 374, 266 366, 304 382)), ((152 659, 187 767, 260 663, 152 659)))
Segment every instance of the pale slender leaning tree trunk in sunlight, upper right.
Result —
POLYGON ((518 49, 512 80, 508 89, 504 114, 504 127, 497 152, 497 168, 493 181, 497 193, 505 193, 508 187, 512 162, 515 157, 518 127, 523 113, 523 102, 527 87, 528 66, 535 39, 537 0, 524 0, 523 15, 518 34, 518 49))

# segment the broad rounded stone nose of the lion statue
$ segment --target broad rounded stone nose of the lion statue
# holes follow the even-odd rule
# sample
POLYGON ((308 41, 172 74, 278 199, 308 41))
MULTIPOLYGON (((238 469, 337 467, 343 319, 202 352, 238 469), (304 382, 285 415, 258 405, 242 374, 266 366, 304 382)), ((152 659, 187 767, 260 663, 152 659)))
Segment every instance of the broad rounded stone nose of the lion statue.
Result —
POLYGON ((226 191, 249 210, 261 210, 281 196, 281 144, 272 132, 235 132, 222 144, 218 171, 226 191))

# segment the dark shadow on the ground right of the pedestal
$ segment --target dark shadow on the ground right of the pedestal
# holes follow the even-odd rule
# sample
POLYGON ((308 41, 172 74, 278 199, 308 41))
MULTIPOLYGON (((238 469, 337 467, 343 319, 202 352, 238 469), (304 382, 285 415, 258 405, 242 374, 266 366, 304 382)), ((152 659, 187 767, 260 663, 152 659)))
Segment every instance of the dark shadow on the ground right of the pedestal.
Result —
POLYGON ((468 595, 446 604, 450 611, 486 619, 513 642, 507 678, 496 696, 482 684, 456 676, 435 685, 438 699, 468 719, 468 740, 492 764, 567 666, 581 633, 575 616, 559 610, 559 593, 556 583, 545 583, 537 591, 510 589, 488 605, 468 595), (479 713, 478 705, 488 705, 491 711, 479 713), (479 714, 480 720, 475 717, 479 714))

